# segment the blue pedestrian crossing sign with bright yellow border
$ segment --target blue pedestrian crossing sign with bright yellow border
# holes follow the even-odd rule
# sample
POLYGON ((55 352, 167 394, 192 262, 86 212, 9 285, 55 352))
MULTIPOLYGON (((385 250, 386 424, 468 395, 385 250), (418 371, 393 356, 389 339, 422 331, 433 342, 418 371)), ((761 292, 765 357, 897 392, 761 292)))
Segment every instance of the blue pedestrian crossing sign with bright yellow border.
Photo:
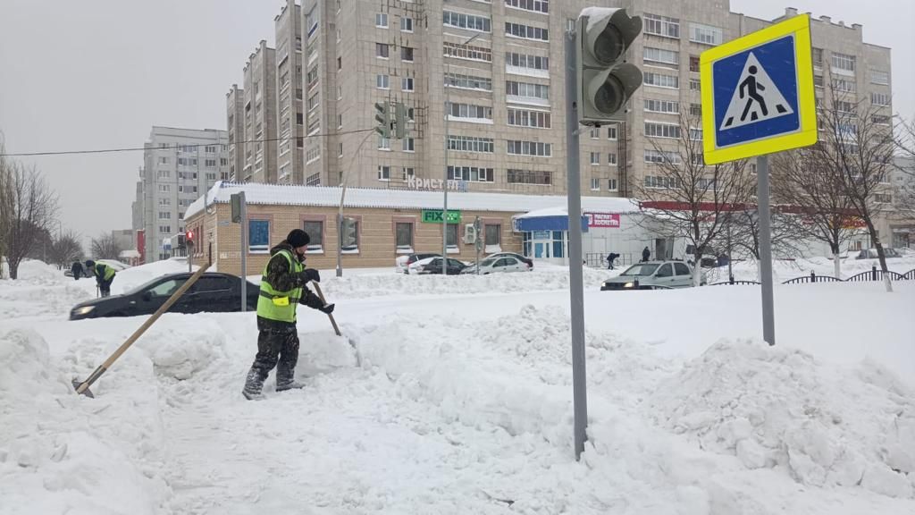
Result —
POLYGON ((705 50, 699 70, 705 164, 816 143, 810 15, 705 50))

